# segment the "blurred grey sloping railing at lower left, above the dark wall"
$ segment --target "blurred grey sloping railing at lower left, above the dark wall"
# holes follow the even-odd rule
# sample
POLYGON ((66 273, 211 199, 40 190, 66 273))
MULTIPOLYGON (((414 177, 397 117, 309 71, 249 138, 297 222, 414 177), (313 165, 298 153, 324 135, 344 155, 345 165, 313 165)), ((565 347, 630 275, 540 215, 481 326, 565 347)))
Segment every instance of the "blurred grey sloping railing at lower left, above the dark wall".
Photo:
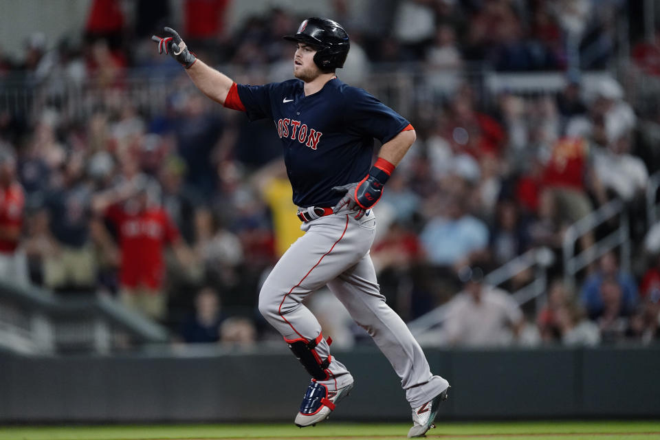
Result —
POLYGON ((45 289, 0 281, 0 347, 5 349, 105 354, 126 344, 167 340, 166 329, 113 298, 61 298, 45 289))

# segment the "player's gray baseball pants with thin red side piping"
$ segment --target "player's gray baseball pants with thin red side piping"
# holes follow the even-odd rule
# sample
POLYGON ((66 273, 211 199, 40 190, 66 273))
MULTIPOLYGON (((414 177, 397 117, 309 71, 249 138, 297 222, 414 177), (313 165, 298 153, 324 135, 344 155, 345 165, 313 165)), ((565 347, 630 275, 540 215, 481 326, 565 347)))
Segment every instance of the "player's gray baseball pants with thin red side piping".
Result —
MULTIPOLYGON (((261 287, 259 311, 285 340, 314 340, 321 327, 302 301, 327 285, 390 361, 406 399, 416 408, 444 391, 448 382, 431 374, 421 347, 380 294, 369 256, 376 230, 373 210, 360 220, 354 215, 342 210, 303 223, 305 235, 285 252, 261 287)), ((325 339, 315 350, 321 359, 330 355, 325 339)), ((334 357, 328 371, 329 379, 317 382, 330 391, 353 382, 347 368, 334 357)))

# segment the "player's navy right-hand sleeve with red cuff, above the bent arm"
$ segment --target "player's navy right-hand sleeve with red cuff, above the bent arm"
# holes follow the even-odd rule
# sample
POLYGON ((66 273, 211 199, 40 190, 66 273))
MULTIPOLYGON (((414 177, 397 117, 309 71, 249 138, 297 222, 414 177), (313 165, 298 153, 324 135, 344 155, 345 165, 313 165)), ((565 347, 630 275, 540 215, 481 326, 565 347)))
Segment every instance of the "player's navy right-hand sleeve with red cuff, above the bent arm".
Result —
POLYGON ((360 135, 388 142, 401 131, 412 129, 410 122, 363 89, 347 87, 344 91, 344 122, 360 135))

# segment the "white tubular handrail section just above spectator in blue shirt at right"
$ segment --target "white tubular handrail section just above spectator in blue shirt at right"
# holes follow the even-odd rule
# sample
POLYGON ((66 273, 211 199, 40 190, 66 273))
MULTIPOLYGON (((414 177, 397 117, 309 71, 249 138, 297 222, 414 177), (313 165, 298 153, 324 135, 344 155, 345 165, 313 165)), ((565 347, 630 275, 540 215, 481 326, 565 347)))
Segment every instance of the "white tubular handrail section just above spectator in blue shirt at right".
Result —
POLYGON ((610 201, 590 214, 576 221, 564 233, 562 243, 562 254, 564 259, 564 283, 573 287, 577 272, 583 270, 601 256, 620 247, 621 269, 630 271, 630 228, 628 226, 628 213, 624 203, 615 199, 610 201), (617 228, 607 236, 593 243, 591 247, 575 253, 575 245, 582 236, 593 232, 595 228, 618 217, 617 228))

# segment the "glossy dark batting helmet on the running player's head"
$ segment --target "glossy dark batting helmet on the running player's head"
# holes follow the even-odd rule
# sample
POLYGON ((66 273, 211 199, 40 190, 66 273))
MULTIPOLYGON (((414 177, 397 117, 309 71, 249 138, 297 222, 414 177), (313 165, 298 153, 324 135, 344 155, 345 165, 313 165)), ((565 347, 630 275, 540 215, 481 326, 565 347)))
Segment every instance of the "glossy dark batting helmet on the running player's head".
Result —
POLYGON ((349 34, 336 21, 311 17, 300 23, 298 32, 285 35, 285 40, 299 41, 318 47, 314 63, 324 71, 344 67, 351 43, 349 34))

